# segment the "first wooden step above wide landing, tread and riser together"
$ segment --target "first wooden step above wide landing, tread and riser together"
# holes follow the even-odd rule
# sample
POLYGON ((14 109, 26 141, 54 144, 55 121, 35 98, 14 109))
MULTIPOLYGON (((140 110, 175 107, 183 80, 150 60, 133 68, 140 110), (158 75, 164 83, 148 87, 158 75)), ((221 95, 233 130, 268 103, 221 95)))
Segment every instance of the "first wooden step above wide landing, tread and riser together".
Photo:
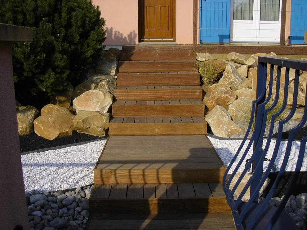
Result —
POLYGON ((109 135, 206 135, 204 117, 114 117, 109 135))

